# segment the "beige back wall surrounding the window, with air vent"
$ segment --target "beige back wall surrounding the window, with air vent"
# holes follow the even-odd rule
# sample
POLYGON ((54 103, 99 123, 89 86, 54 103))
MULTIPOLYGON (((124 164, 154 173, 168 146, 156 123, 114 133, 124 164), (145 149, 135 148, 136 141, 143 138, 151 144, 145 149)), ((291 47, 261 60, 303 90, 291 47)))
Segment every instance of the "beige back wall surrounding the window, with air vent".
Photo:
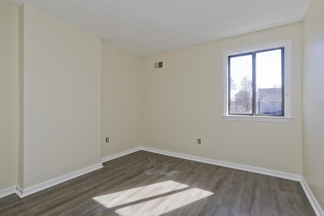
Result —
POLYGON ((302 23, 147 57, 143 67, 144 146, 301 175, 302 23), (292 123, 223 120, 223 51, 288 38, 292 123))

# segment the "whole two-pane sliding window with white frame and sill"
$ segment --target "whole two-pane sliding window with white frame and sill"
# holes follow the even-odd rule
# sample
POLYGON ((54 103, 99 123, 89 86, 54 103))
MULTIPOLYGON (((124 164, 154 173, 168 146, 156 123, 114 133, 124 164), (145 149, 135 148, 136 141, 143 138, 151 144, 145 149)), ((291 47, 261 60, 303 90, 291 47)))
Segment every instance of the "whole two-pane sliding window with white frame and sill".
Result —
POLYGON ((224 119, 290 122, 290 59, 291 40, 224 51, 224 119))

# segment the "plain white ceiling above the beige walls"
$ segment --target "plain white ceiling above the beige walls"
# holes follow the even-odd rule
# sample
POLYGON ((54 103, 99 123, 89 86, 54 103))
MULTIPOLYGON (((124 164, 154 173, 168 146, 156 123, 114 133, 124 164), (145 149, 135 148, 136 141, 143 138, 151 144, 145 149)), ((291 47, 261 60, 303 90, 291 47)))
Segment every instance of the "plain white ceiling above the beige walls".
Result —
POLYGON ((310 0, 0 0, 145 57, 303 20, 310 0))

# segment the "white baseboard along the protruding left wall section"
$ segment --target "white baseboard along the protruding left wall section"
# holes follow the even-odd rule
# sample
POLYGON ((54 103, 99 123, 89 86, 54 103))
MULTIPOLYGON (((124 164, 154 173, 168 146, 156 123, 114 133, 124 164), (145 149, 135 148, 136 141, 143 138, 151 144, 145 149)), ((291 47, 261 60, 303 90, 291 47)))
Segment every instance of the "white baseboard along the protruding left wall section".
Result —
POLYGON ((70 179, 74 179, 74 178, 76 178, 78 176, 82 176, 84 174, 87 174, 88 172, 94 171, 94 170, 99 169, 101 167, 103 167, 102 163, 97 163, 95 165, 88 166, 86 168, 70 172, 69 174, 66 174, 66 175, 63 175, 63 176, 48 180, 46 182, 39 183, 37 185, 31 186, 31 187, 28 187, 28 188, 21 188, 19 185, 17 185, 16 194, 20 198, 22 198, 22 197, 28 196, 30 194, 36 193, 38 191, 42 191, 44 189, 50 188, 50 187, 52 187, 54 185, 58 185, 58 184, 60 184, 62 182, 66 182, 66 181, 68 181, 70 179))

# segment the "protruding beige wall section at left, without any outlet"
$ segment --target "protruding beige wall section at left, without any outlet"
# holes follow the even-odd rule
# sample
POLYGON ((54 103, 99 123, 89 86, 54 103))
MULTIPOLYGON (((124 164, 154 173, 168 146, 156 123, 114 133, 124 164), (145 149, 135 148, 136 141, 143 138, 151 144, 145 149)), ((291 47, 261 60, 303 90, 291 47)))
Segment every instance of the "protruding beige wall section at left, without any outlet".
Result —
POLYGON ((24 6, 24 188, 101 162, 101 38, 24 6))

